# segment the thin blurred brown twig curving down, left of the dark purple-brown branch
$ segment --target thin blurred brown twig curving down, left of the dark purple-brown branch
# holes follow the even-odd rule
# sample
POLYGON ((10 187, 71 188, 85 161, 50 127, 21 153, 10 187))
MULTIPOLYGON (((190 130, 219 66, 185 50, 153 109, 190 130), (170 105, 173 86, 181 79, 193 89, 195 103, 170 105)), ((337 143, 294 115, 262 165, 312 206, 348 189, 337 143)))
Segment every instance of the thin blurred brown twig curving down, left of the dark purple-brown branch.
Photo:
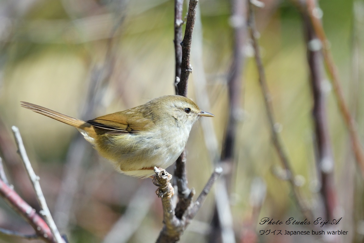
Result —
POLYGON ((280 136, 278 135, 278 130, 276 129, 276 122, 274 120, 274 115, 273 115, 272 98, 269 94, 269 90, 268 90, 268 86, 267 86, 267 82, 266 82, 265 71, 264 71, 264 67, 262 64, 258 40, 257 40, 258 32, 256 30, 254 21, 255 20, 254 20, 253 4, 249 3, 248 24, 250 27, 250 36, 253 40, 254 56, 255 56, 255 61, 256 61, 256 65, 257 65, 257 69, 258 69, 259 84, 260 84, 260 87, 262 90, 262 94, 264 96, 264 103, 265 103, 266 113, 268 116, 270 131, 272 133, 271 135, 272 135, 273 145, 278 153, 278 156, 282 162, 282 165, 284 166, 284 169, 288 173, 288 182, 290 183, 292 193, 293 193, 294 199, 296 200, 298 208, 300 208, 302 214, 306 218, 311 219, 312 212, 310 212, 309 208, 306 206, 305 202, 302 199, 301 193, 298 191, 298 188, 295 185, 296 183, 294 181, 293 170, 290 166, 290 162, 289 162, 288 156, 286 154, 286 151, 284 149, 283 143, 280 139, 280 136))

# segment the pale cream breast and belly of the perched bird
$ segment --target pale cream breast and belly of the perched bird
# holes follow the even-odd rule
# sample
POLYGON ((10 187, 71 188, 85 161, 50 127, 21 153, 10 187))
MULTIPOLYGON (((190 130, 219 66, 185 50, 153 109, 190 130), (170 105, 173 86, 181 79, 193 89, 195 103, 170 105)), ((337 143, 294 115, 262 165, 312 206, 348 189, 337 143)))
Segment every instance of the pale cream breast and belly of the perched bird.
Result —
POLYGON ((97 140, 88 137, 84 131, 81 133, 102 157, 112 162, 116 171, 147 178, 154 175, 153 169, 147 168, 156 166, 165 169, 176 161, 186 145, 191 127, 185 129, 182 131, 178 126, 165 126, 157 132, 103 134, 97 140), (173 135, 176 132, 180 136, 173 135))

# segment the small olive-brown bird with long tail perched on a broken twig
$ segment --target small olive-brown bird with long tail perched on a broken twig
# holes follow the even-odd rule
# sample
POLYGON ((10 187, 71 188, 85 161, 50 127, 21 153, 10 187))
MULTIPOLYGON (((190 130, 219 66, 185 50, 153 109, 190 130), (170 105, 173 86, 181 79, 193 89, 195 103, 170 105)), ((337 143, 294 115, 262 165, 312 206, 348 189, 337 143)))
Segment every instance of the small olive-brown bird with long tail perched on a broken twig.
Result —
POLYGON ((82 121, 39 105, 21 106, 75 127, 116 171, 139 178, 167 168, 186 146, 199 117, 214 117, 184 96, 167 95, 143 105, 82 121))

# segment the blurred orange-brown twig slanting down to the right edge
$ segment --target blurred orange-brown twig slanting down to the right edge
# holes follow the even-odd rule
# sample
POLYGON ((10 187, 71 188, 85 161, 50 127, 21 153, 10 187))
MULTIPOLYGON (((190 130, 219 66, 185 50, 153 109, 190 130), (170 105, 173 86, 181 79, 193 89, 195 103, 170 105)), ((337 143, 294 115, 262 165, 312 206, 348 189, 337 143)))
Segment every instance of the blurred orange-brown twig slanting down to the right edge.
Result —
POLYGON ((355 120, 352 118, 348 106, 345 103, 343 89, 340 85, 339 72, 333 60, 329 41, 327 40, 323 25, 321 23, 321 9, 318 7, 316 0, 306 0, 308 15, 311 19, 314 31, 321 41, 322 45, 322 53, 325 60, 325 64, 331 77, 331 84, 333 86, 333 90, 335 92, 337 104, 339 106, 341 115, 345 121, 345 124, 348 127, 349 135, 351 138, 351 143, 353 147, 353 151, 355 154, 355 159, 360 167, 361 174, 364 177, 364 152, 363 147, 360 143, 359 135, 357 132, 357 128, 355 125, 355 120))

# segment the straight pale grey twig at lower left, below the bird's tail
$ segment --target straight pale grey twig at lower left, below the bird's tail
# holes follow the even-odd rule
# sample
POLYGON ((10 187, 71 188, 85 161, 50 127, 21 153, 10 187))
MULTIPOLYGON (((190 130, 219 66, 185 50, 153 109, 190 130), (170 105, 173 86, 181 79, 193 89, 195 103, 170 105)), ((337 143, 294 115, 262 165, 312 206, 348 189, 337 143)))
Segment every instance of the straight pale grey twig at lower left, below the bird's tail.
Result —
POLYGON ((37 200, 38 200, 38 202, 40 204, 40 207, 41 207, 40 214, 43 215, 44 218, 46 219, 47 224, 50 227, 52 235, 55 237, 56 242, 57 243, 64 243, 61 235, 59 234, 58 228, 57 228, 56 224, 54 223, 51 212, 49 211, 46 199, 44 198, 44 195, 43 195, 42 189, 40 187, 40 183, 39 183, 40 178, 39 178, 39 176, 37 176, 34 173, 34 170, 32 168, 32 165, 31 165, 30 161, 29 161, 27 152, 25 151, 25 147, 24 147, 24 144, 23 144, 23 139, 21 138, 19 129, 16 126, 12 126, 11 128, 12 128, 12 131, 13 131, 13 134, 14 134, 14 137, 15 137, 16 145, 18 147, 18 153, 19 153, 19 155, 21 157, 21 160, 24 163, 25 170, 27 171, 29 179, 32 182, 33 188, 34 188, 35 193, 36 193, 37 200))

